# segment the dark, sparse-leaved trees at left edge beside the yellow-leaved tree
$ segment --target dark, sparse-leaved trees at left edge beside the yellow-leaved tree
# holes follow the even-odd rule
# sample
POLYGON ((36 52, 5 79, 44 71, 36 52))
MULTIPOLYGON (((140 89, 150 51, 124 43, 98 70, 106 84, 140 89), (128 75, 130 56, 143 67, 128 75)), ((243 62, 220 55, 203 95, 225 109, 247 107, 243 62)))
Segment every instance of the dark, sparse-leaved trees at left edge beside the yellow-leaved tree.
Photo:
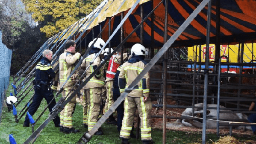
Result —
POLYGON ((13 50, 11 63, 11 75, 13 75, 25 65, 47 38, 40 32, 39 27, 29 21, 26 11, 15 0, 1 0, 0 21, 2 42, 13 50))

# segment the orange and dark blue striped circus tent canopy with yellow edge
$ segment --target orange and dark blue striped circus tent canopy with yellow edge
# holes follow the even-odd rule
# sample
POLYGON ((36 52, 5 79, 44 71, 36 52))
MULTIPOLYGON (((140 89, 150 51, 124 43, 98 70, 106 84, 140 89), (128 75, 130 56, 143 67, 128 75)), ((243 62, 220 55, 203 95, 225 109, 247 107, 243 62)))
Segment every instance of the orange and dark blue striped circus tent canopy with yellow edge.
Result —
MULTIPOLYGON (((168 1, 168 32, 169 39, 186 18, 197 8, 202 0, 169 0, 168 1)), ((113 32, 121 22, 121 12, 127 14, 135 0, 105 0, 102 3, 103 9, 97 14, 97 17, 87 27, 87 41, 99 35, 103 30, 101 37, 103 40, 109 38, 109 20, 111 22, 110 31, 113 32), (93 28, 93 30, 92 30, 93 28)), ((161 0, 141 0, 143 5, 143 17, 146 17, 161 0)), ((217 0, 212 0, 211 10, 211 28, 210 43, 216 41, 216 23, 217 23, 217 0)), ((143 44, 151 47, 161 47, 164 43, 164 26, 165 26, 165 1, 153 12, 153 17, 144 21, 143 44), (152 35, 153 34, 153 35, 152 35), (152 41, 152 37, 154 41, 152 41)), ((255 0, 220 0, 220 42, 225 44, 252 42, 256 38, 256 7, 255 0)), ((99 9, 100 7, 98 7, 99 9)), ((190 23, 184 32, 175 41, 175 46, 192 46, 206 42, 206 23, 207 23, 207 6, 197 17, 190 23)), ((89 17, 89 16, 88 16, 89 17)), ((84 19, 88 20, 88 18, 84 19)), ((132 14, 124 22, 124 37, 130 34, 132 30, 141 22, 141 6, 136 6, 132 14)), ((84 30, 80 29, 79 32, 84 30)), ((72 29, 71 29, 72 30, 72 29)), ((110 32, 110 33, 111 33, 110 32)), ((85 34, 84 34, 85 35, 85 34)), ((117 46, 121 40, 120 30, 111 40, 111 46, 117 46)), ((140 29, 127 40, 128 45, 140 43, 140 29)))

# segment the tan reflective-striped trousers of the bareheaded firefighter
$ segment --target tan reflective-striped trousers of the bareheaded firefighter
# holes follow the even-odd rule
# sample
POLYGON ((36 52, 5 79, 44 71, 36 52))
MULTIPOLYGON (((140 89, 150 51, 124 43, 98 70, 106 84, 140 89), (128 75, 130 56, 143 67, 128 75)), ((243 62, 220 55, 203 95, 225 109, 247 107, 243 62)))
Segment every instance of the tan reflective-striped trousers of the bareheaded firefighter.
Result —
MULTIPOLYGON (((64 88, 62 92, 62 98, 65 98, 69 92, 71 92, 72 87, 64 88)), ((68 95, 68 97, 72 94, 72 92, 68 95)), ((68 104, 65 105, 64 109, 60 112, 60 125, 63 127, 72 128, 72 116, 74 112, 74 107, 76 104, 76 97, 72 98, 68 104)))

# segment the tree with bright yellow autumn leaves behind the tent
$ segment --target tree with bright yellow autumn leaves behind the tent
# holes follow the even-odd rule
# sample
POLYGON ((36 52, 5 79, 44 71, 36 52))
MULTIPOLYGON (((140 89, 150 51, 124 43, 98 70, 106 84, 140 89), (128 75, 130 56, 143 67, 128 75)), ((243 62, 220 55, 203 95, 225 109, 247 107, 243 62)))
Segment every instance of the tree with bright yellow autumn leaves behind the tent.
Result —
POLYGON ((67 29, 95 9, 102 0, 22 0, 27 12, 47 37, 67 29))

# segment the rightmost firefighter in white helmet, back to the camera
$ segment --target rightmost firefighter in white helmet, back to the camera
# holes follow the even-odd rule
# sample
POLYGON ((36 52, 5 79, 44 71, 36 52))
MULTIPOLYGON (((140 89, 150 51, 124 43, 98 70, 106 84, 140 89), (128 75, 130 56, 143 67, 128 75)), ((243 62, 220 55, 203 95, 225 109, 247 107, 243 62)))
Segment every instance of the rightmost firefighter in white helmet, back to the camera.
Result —
MULTIPOLYGON (((132 46, 132 58, 125 62, 119 74, 120 92, 124 92, 132 81, 141 73, 147 64, 144 61, 146 49, 139 43, 132 46)), ((151 138, 151 109, 152 104, 149 98, 149 73, 137 84, 138 89, 132 90, 124 100, 124 118, 120 132, 122 144, 129 144, 130 132, 134 121, 135 111, 138 108, 138 114, 141 119, 141 140, 143 144, 153 144, 151 138)))

